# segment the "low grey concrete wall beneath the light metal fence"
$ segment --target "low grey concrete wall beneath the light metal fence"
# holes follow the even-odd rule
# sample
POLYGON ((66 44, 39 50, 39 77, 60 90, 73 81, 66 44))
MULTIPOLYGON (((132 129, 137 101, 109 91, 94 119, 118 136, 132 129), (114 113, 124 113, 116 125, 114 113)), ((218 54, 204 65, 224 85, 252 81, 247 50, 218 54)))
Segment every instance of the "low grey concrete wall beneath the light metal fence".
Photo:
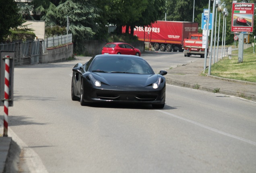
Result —
POLYGON ((41 63, 58 62, 73 55, 73 43, 58 48, 47 48, 47 53, 42 55, 41 63))

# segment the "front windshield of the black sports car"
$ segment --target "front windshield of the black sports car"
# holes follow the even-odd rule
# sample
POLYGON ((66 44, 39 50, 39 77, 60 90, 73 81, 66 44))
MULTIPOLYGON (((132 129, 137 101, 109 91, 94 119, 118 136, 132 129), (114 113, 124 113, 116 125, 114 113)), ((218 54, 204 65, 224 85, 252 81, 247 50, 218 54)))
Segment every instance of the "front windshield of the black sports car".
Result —
POLYGON ((92 72, 155 74, 143 59, 112 56, 95 58, 90 66, 92 72))

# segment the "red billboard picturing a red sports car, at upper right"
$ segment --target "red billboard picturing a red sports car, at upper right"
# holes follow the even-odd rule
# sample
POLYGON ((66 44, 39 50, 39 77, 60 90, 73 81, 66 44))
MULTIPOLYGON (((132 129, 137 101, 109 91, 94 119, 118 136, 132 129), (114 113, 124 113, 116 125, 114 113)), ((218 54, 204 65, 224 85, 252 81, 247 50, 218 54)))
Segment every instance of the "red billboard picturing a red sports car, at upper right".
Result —
POLYGON ((253 32, 253 3, 233 3, 231 32, 253 32))

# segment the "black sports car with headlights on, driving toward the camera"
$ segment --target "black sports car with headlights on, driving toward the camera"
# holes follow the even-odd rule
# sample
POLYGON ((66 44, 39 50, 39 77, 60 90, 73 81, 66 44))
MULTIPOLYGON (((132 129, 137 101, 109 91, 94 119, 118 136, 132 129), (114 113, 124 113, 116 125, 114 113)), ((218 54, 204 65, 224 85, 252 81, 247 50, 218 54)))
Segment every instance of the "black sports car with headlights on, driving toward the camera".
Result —
POLYGON ((97 102, 165 106, 166 71, 155 74, 146 60, 134 55, 101 54, 73 67, 71 97, 82 106, 97 102))

